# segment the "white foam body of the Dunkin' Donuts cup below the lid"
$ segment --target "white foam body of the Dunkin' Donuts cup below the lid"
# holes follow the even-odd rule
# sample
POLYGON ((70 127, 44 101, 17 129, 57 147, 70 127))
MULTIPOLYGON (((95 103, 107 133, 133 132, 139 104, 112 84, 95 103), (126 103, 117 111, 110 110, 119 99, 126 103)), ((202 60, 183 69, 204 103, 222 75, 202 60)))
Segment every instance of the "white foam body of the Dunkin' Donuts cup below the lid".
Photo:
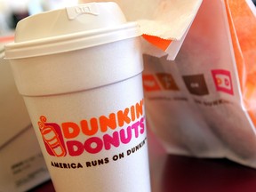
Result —
POLYGON ((10 62, 56 191, 150 191, 140 37, 10 62))

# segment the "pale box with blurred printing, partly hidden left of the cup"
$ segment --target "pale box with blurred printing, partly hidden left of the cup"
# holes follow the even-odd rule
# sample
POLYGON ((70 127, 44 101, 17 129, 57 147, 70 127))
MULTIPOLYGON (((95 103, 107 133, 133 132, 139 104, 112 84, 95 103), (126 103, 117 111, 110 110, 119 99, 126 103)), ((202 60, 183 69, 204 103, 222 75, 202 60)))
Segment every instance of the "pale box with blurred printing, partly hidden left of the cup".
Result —
POLYGON ((49 180, 44 158, 18 93, 11 66, 0 53, 0 191, 22 192, 49 180))

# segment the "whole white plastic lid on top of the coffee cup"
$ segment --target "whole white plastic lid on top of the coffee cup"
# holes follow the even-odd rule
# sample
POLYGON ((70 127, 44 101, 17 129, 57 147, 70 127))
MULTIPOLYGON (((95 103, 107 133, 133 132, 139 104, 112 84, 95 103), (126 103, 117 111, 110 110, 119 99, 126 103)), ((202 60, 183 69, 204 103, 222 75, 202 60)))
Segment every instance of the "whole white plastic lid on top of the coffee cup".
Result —
POLYGON ((136 22, 126 22, 116 3, 78 4, 20 20, 6 59, 70 52, 140 36, 136 22))

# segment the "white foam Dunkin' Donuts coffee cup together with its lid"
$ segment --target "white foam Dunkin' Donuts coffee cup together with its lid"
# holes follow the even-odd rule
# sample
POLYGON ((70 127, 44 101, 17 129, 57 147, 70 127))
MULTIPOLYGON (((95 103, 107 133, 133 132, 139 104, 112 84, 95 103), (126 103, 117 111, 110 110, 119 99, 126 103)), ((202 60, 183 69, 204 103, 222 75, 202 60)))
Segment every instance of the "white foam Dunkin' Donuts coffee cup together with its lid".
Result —
POLYGON ((118 5, 21 20, 5 58, 56 191, 150 191, 140 30, 118 5))

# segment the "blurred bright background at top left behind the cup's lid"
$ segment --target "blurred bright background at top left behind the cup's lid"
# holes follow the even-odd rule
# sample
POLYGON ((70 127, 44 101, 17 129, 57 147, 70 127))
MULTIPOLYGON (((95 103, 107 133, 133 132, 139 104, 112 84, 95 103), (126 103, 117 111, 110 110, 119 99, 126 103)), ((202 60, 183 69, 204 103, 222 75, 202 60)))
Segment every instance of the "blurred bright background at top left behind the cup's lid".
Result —
MULTIPOLYGON (((256 0, 248 1, 256 4, 256 0)), ((75 5, 78 2, 79 0, 0 0, 0 36, 12 33, 17 22, 29 15, 75 5)))

